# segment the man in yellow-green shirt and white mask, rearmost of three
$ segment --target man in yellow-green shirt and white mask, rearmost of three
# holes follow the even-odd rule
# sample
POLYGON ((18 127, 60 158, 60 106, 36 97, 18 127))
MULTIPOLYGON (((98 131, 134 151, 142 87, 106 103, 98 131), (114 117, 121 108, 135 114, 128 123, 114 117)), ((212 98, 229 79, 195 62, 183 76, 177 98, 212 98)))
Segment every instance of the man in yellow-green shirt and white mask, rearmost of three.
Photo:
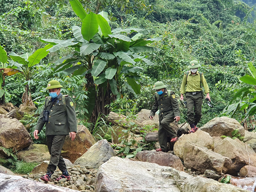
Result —
POLYGON ((183 94, 186 92, 187 116, 188 123, 191 127, 190 133, 194 133, 198 130, 196 125, 202 116, 203 89, 201 84, 204 86, 204 92, 206 94, 205 98, 208 98, 211 101, 208 84, 206 83, 203 73, 197 71, 198 67, 200 67, 200 65, 196 60, 189 63, 188 68, 190 68, 190 71, 187 71, 187 73, 184 74, 180 87, 180 100, 183 100, 183 94), (185 91, 186 85, 187 88, 185 91))

